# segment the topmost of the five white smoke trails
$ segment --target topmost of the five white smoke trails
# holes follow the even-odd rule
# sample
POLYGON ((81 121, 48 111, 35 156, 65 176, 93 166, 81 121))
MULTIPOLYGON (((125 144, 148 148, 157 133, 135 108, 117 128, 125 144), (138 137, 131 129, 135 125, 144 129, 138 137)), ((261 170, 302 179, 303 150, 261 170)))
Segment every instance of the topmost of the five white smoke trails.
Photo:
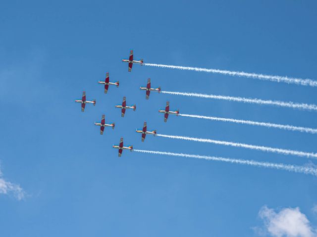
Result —
POLYGON ((257 73, 236 72, 236 71, 219 70, 219 69, 207 69, 207 68, 200 68, 200 67, 182 67, 182 66, 155 64, 155 63, 143 63, 143 65, 152 66, 152 67, 161 67, 161 68, 172 68, 172 69, 179 69, 179 70, 190 70, 190 71, 197 71, 197 72, 211 72, 211 73, 218 73, 218 74, 229 75, 229 76, 260 79, 264 81, 284 82, 287 84, 317 87, 317 81, 311 80, 311 79, 281 77, 281 76, 263 75, 263 74, 257 74, 257 73))

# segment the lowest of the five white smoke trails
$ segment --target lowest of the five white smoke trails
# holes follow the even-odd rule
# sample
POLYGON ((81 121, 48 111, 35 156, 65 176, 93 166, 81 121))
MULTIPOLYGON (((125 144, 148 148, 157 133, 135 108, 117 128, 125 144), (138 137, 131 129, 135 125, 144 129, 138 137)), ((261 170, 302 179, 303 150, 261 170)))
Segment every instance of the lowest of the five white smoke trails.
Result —
POLYGON ((197 158, 197 159, 206 159, 206 160, 214 160, 214 161, 222 161, 229 162, 233 164, 242 164, 242 165, 252 165, 264 168, 271 168, 277 170, 287 170, 290 172, 303 173, 317 176, 317 169, 313 167, 305 167, 305 166, 297 166, 297 165, 287 165, 282 163, 269 163, 269 162, 260 162, 255 160, 243 160, 243 159, 230 159, 223 157, 215 157, 215 156, 206 156, 206 155, 190 155, 183 153, 172 153, 172 152, 163 152, 163 151, 152 151, 152 150, 134 150, 136 152, 148 153, 148 154, 158 154, 158 155, 170 155, 170 156, 179 156, 179 157, 187 157, 187 158, 197 158))

